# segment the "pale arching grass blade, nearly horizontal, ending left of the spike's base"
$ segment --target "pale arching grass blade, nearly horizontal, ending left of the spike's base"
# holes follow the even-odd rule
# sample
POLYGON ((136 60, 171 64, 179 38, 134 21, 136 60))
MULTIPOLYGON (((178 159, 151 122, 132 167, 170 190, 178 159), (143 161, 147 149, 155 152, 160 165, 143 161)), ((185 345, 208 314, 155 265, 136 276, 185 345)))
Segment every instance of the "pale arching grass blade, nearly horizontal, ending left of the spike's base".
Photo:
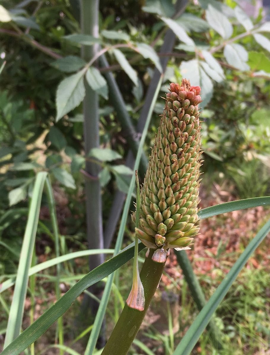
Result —
MULTIPOLYGON (((65 262, 67 260, 79 258, 81 256, 89 256, 89 255, 95 255, 95 254, 113 254, 114 249, 92 249, 92 250, 82 250, 82 251, 74 251, 72 253, 68 253, 66 255, 61 255, 57 258, 53 258, 47 261, 44 261, 43 263, 37 264, 29 269, 28 276, 31 276, 33 274, 36 274, 42 270, 45 270, 49 267, 52 267, 54 265, 57 265, 59 263, 65 262)), ((0 293, 8 289, 9 287, 13 286, 15 283, 15 277, 10 278, 6 281, 4 281, 0 285, 0 293)))

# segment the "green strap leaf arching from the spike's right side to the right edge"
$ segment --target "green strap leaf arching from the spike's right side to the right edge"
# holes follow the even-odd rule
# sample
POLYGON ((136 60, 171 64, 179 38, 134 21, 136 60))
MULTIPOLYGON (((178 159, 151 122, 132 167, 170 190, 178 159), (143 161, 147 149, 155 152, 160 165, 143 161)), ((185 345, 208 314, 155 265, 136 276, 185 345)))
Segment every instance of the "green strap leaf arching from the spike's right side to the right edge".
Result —
POLYGON ((257 206, 269 206, 270 196, 245 198, 244 200, 231 201, 206 207, 198 212, 200 219, 216 216, 217 214, 238 211, 240 209, 252 208, 257 206))

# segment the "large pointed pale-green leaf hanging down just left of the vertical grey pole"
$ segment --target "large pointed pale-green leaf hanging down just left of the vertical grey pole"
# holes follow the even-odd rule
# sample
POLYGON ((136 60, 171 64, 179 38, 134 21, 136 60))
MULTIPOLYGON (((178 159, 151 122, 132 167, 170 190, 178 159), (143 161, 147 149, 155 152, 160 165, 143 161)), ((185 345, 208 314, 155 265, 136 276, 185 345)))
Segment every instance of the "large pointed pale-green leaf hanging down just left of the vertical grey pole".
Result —
POLYGON ((85 97, 84 73, 81 70, 60 82, 56 92, 56 121, 77 107, 85 97))

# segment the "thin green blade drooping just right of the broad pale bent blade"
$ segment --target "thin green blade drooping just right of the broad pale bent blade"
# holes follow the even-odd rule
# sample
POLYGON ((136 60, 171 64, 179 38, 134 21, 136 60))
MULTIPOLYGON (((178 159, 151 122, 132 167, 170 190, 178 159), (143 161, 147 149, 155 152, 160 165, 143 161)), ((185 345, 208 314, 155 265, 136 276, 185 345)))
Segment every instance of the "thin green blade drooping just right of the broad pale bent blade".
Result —
MULTIPOLYGON (((47 197, 48 197, 48 204, 49 204, 49 211, 50 211, 50 217, 51 217, 51 222, 52 222, 52 227, 53 227, 53 234, 54 234, 54 248, 55 248, 55 255, 56 257, 60 256, 60 251, 59 251, 59 231, 58 231, 58 223, 57 223, 57 214, 56 214, 56 207, 55 207, 55 201, 54 201, 54 196, 53 196, 53 188, 52 188, 52 183, 51 179, 49 176, 47 176, 46 181, 45 181, 45 186, 46 186, 46 191, 47 191, 47 197)), ((56 295, 56 300, 59 300, 60 298, 60 263, 56 264, 56 282, 55 282, 55 295, 56 295)), ((57 329, 55 332, 55 340, 57 340, 59 345, 64 344, 64 328, 63 328, 63 319, 62 317, 59 317, 57 320, 57 329)), ((60 355, 63 355, 63 349, 60 348, 60 355)))

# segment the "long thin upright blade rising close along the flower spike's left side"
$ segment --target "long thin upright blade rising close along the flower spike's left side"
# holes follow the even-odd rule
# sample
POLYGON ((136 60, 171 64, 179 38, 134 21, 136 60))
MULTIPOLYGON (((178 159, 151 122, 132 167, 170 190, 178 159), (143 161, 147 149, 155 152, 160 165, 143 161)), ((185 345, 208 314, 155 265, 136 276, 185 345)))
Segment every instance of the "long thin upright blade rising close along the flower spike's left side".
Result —
MULTIPOLYGON (((132 175, 132 179, 131 179, 131 182, 130 182, 130 185, 129 185, 126 202, 125 202, 125 206, 124 206, 124 209, 123 209, 121 224, 120 224, 119 232, 118 232, 118 235, 117 235, 117 240, 116 240, 116 245, 115 245, 115 254, 118 253, 118 251, 120 250, 120 247, 122 245, 123 235, 124 235, 124 232, 125 232, 125 226, 126 226, 126 222, 127 222, 127 215, 128 215, 128 212, 129 212, 129 206, 130 206, 130 203, 131 203, 132 193, 133 193, 133 190, 134 190, 135 171, 138 169, 138 166, 139 166, 139 163, 140 163, 140 159, 141 159, 141 155, 142 155, 142 151, 143 151, 144 141, 145 141, 145 138, 146 138, 146 135, 147 135, 148 126, 150 124, 150 120, 151 120, 151 116, 152 116, 152 113, 153 113, 154 105, 155 105, 155 102, 156 102, 157 97, 158 97, 160 86, 162 84, 162 78, 163 78, 163 76, 160 78, 160 80, 158 82, 158 85, 156 87, 155 94, 153 96, 153 100, 149 104, 147 120, 145 122, 145 127, 144 127, 144 130, 143 130, 143 133, 142 133, 141 141, 139 143, 139 148, 138 148, 138 152, 137 152, 137 156, 136 156, 136 160, 135 160, 135 164, 134 164, 134 169, 133 169, 133 175, 132 175)), ((101 299, 101 302, 100 302, 100 305, 99 305, 99 309, 98 309, 97 314, 96 314, 96 318, 95 318, 95 321, 94 321, 94 326, 93 326, 92 332, 90 334, 88 344, 86 346, 85 355, 92 355, 94 350, 95 350, 96 341, 97 341, 97 338, 99 336, 101 324, 102 324, 102 321, 103 321, 103 318, 104 318, 104 315, 105 315, 105 312, 106 312, 108 299, 109 299, 110 293, 111 293, 113 276, 114 276, 114 274, 112 274, 112 275, 110 275, 110 277, 108 277, 108 280, 107 280, 107 283, 106 283, 106 286, 105 286, 105 289, 104 289, 104 293, 102 295, 102 299, 101 299)))

